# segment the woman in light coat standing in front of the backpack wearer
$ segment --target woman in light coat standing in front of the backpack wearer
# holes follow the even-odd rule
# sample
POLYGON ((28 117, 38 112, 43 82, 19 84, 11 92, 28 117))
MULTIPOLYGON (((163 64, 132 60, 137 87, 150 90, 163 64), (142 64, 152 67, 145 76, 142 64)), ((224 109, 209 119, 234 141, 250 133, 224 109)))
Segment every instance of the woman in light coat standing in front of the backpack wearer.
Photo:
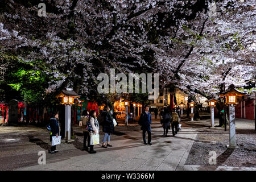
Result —
POLYGON ((90 113, 89 113, 89 116, 90 116, 90 121, 88 124, 90 125, 87 125, 87 129, 89 131, 89 135, 90 135, 90 150, 89 150, 89 153, 90 154, 95 154, 96 151, 93 150, 93 146, 94 144, 92 143, 92 137, 93 135, 98 135, 99 134, 99 131, 100 131, 100 125, 98 124, 98 120, 96 118, 96 111, 95 110, 91 110, 90 113))

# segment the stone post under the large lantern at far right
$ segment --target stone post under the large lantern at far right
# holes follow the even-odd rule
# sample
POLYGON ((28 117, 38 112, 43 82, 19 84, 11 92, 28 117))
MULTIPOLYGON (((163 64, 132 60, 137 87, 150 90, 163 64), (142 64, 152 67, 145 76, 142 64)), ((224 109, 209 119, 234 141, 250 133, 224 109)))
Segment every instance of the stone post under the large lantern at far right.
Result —
POLYGON ((236 122, 235 122, 235 107, 229 106, 229 147, 236 147, 236 122))

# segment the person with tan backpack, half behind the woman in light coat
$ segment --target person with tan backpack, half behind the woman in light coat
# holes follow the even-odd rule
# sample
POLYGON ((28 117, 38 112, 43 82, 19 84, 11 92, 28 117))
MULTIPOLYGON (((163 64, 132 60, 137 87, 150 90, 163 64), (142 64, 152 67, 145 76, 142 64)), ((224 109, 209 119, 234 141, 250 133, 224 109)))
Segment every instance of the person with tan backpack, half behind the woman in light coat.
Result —
POLYGON ((82 126, 81 126, 82 133, 84 134, 84 148, 86 150, 88 150, 88 148, 90 147, 90 135, 89 135, 89 131, 86 129, 87 122, 89 121, 89 112, 88 112, 88 110, 82 111, 80 121, 82 122, 82 126), (87 141, 88 146, 86 146, 86 140, 88 140, 87 141))

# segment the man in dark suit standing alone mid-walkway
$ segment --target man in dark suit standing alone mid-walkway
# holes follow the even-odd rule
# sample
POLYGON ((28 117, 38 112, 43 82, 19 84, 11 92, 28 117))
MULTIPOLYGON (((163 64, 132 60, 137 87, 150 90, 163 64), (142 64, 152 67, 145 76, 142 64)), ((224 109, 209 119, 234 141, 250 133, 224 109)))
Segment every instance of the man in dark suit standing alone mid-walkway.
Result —
POLYGON ((149 112, 149 106, 145 107, 145 111, 141 114, 139 118, 139 125, 141 125, 142 138, 144 144, 151 145, 151 114, 149 112), (148 141, 146 142, 146 131, 148 135, 148 141))

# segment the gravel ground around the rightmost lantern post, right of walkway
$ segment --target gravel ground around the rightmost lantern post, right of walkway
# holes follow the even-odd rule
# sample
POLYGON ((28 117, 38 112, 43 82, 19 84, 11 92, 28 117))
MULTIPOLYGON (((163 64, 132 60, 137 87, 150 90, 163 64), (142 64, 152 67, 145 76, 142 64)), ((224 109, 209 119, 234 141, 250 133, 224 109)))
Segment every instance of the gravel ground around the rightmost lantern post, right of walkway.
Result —
MULTIPOLYGON (((229 127, 210 129, 210 121, 186 122, 197 131, 186 165, 209 166, 209 152, 216 151, 217 166, 256 167, 256 131, 254 121, 236 119, 236 142, 238 148, 227 148, 229 144, 229 127), (198 126, 201 127, 198 127, 198 126)), ((216 119, 215 125, 218 125, 216 119)))

